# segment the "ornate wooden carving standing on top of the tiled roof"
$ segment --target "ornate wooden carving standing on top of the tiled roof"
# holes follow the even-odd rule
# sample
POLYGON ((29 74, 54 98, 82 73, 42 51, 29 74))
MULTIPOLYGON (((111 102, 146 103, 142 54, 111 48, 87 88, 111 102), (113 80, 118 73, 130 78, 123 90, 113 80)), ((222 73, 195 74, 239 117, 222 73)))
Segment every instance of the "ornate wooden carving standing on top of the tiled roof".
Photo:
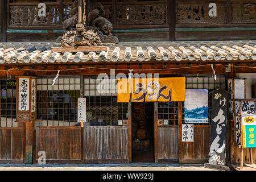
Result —
MULTIPOLYGON (((88 13, 88 25, 78 23, 78 8, 77 0, 74 1, 72 10, 73 14, 70 18, 64 20, 63 28, 64 35, 57 38, 56 43, 61 46, 102 46, 102 43, 119 43, 118 38, 112 36, 113 26, 106 18, 100 16, 104 15, 104 6, 101 3, 94 1, 90 3, 93 8, 88 13), (89 26, 92 24, 92 26, 89 26)), ((84 17, 85 18, 85 17, 84 17)))

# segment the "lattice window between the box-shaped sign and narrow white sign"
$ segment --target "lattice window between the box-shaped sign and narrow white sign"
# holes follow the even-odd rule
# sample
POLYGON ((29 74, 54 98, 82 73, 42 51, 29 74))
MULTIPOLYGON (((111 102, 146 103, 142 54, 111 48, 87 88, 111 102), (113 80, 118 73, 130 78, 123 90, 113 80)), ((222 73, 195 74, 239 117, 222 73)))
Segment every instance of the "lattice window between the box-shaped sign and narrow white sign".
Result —
POLYGON ((41 126, 75 126, 80 77, 37 79, 37 119, 41 126))

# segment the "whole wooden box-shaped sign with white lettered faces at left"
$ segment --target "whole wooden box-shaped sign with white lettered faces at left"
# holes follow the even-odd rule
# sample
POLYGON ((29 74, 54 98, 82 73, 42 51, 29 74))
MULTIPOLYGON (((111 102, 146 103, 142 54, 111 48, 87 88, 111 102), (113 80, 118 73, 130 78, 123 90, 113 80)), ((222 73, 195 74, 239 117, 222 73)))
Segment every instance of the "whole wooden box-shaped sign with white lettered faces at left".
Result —
POLYGON ((16 100, 16 122, 31 122, 36 119, 36 77, 19 76, 16 100))

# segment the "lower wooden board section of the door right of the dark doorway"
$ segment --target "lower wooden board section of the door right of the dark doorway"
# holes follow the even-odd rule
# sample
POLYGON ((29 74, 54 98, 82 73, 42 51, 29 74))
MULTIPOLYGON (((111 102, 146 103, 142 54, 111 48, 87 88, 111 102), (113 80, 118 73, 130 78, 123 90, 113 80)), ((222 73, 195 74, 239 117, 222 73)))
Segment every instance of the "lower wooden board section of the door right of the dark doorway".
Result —
POLYGON ((158 127, 158 159, 178 160, 177 127, 158 127))

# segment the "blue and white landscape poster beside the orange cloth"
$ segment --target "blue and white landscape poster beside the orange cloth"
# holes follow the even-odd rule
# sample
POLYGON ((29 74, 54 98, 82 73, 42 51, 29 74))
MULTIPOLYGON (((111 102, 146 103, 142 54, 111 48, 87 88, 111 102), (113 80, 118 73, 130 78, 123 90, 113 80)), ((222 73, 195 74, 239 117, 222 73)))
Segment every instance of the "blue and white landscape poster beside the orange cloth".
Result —
POLYGON ((186 89, 185 123, 208 123, 208 89, 186 89))

